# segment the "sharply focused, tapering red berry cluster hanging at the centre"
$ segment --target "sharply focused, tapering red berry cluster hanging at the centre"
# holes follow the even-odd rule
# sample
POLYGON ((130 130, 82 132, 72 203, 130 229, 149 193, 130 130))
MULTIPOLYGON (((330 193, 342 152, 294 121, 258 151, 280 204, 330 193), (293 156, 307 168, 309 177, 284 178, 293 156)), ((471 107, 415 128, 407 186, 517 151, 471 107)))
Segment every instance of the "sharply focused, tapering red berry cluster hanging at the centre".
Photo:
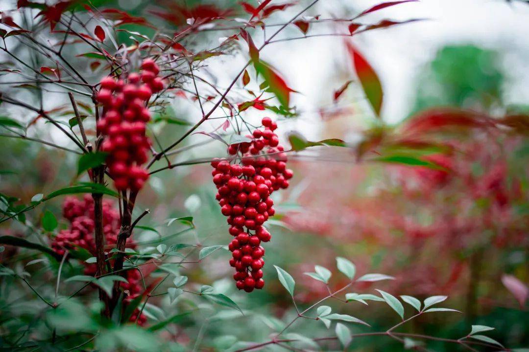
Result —
POLYGON ((235 237, 229 245, 233 255, 230 265, 236 270, 233 279, 237 288, 246 292, 265 286, 261 270, 265 249, 260 244, 271 238, 263 226, 275 214, 270 194, 287 188, 293 175, 292 170, 285 168, 287 155, 273 132, 276 122, 265 117, 262 125, 264 129, 247 136, 251 141, 230 145, 228 153, 232 158, 211 163, 213 183, 218 189, 216 199, 222 214, 228 217, 230 234, 235 237))

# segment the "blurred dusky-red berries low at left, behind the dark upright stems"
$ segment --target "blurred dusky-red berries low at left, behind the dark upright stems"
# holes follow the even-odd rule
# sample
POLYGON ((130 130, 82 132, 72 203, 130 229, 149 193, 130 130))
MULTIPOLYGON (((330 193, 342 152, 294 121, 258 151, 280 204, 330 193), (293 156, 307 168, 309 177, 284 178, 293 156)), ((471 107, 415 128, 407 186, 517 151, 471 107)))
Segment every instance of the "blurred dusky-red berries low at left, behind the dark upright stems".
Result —
MULTIPOLYGON (((67 230, 61 230, 54 237, 51 248, 59 255, 64 255, 66 250, 76 250, 83 248, 95 256, 96 244, 94 239, 94 200, 92 196, 85 195, 83 200, 76 197, 66 197, 62 204, 62 214, 70 222, 67 230)), ((120 213, 114 208, 112 202, 103 201, 103 233, 105 234, 106 244, 115 246, 117 235, 120 232, 120 213)), ((127 241, 127 247, 135 249, 136 244, 132 239, 127 241)), ((97 274, 97 265, 83 262, 85 265, 85 274, 95 276, 97 274)), ((138 270, 126 271, 127 282, 120 282, 122 290, 126 293, 124 299, 128 304, 134 298, 142 293, 142 278, 138 270)), ((133 313, 131 321, 136 321, 139 310, 133 313)), ((147 317, 143 314, 138 319, 138 324, 143 325, 147 322, 147 317)))

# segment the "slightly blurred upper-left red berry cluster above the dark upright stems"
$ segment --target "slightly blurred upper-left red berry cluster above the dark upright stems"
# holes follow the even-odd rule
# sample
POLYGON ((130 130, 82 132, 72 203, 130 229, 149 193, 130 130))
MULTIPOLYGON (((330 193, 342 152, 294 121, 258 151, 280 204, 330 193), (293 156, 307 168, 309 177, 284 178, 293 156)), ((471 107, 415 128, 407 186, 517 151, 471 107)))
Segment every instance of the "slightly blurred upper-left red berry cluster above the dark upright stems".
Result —
POLYGON ((153 93, 163 89, 158 77, 158 65, 143 60, 140 73, 130 73, 125 79, 105 77, 97 100, 103 104, 103 117, 97 121, 97 131, 104 135, 102 150, 108 153, 106 163, 120 191, 139 191, 149 178, 147 161, 151 142, 145 136, 145 123, 151 119, 147 102, 153 93))

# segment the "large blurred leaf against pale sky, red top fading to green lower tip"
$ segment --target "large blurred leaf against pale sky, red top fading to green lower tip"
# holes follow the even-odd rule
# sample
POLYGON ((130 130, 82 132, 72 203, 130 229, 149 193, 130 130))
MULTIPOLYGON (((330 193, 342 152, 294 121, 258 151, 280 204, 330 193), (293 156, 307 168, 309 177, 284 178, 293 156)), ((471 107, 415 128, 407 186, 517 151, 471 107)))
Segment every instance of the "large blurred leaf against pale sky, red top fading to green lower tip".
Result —
POLYGON ((362 89, 366 94, 371 107, 375 110, 377 116, 380 116, 384 92, 382 91, 382 85, 380 84, 377 73, 351 43, 346 42, 346 45, 349 54, 353 59, 354 71, 357 73, 358 79, 362 84, 362 89))

